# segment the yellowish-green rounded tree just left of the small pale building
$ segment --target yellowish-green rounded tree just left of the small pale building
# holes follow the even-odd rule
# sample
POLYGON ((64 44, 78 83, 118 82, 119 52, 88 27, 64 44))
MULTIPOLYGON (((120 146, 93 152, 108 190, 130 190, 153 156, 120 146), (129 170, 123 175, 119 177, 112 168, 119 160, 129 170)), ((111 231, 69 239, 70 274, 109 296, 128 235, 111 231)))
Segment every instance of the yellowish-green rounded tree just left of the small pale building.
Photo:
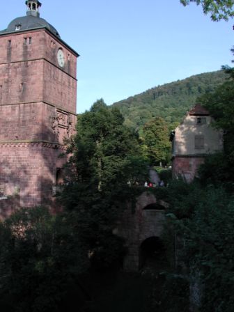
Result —
POLYGON ((146 145, 146 154, 151 164, 163 162, 167 164, 171 154, 169 129, 161 117, 151 119, 143 127, 143 139, 146 145))

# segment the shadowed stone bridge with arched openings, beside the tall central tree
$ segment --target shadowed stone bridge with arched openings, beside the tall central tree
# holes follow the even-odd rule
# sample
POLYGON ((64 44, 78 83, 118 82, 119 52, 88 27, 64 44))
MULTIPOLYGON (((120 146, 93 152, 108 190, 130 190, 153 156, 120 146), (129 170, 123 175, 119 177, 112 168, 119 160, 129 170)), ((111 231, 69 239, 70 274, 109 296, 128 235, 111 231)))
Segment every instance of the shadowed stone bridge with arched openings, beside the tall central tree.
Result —
POLYGON ((141 269, 146 260, 143 249, 162 247, 167 205, 163 201, 157 201, 154 194, 146 191, 137 198, 134 211, 128 208, 123 212, 118 234, 125 238, 128 249, 123 264, 126 271, 141 269))

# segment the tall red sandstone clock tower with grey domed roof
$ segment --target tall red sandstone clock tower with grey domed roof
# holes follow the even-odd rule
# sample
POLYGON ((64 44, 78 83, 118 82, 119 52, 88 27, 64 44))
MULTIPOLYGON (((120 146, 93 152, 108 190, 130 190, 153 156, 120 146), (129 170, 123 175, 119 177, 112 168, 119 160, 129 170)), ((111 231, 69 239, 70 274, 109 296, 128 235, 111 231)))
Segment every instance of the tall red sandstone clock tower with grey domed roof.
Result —
POLYGON ((65 159, 64 139, 75 132, 77 52, 46 20, 41 3, 0 31, 0 214, 52 206, 65 159))

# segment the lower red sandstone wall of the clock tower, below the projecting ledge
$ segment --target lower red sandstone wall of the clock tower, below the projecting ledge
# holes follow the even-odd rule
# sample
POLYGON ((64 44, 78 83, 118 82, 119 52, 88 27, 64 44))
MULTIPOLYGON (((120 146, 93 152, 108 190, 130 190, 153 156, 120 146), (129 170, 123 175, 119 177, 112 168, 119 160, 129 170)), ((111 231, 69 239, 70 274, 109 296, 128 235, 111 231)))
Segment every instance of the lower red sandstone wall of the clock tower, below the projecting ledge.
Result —
POLYGON ((59 158, 61 146, 50 143, 0 144, 0 189, 3 196, 18 194, 20 207, 53 205, 56 169, 67 160, 59 158))

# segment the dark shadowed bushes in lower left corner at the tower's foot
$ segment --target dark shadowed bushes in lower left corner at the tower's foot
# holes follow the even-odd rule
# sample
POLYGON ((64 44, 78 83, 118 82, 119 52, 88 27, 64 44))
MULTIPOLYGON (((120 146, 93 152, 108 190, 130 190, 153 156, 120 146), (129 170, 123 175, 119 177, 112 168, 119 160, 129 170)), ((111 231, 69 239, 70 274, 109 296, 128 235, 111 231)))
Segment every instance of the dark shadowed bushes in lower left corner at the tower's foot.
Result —
POLYGON ((0 306, 5 301, 14 312, 60 311, 88 266, 72 232, 64 217, 45 208, 22 209, 0 224, 0 306))

